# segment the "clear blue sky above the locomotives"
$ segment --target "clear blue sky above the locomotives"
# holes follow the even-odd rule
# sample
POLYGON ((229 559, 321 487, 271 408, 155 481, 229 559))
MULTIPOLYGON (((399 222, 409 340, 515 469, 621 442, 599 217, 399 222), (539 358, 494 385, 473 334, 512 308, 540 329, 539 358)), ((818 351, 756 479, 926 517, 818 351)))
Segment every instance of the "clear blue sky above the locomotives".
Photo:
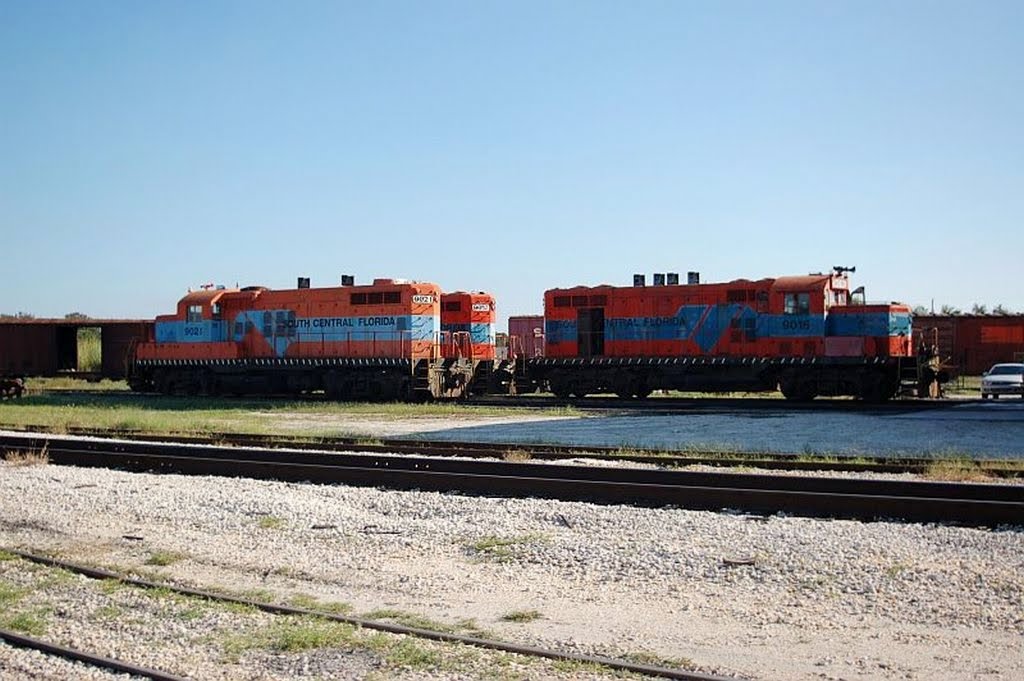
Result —
POLYGON ((856 265, 1024 310, 1024 2, 0 0, 0 311, 856 265))

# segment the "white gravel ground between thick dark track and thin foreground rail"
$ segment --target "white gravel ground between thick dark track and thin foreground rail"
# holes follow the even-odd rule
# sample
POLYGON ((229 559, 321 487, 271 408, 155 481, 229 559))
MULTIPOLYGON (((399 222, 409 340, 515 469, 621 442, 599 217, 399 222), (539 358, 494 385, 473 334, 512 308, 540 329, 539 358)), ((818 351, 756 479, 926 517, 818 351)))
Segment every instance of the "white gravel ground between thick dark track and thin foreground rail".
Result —
MULTIPOLYGON (((1024 678, 1022 527, 0 466, 0 547, 201 588, 304 593, 356 612, 473 620, 509 640, 751 679, 1024 678), (146 565, 157 551, 184 558, 146 565), (514 610, 543 616, 502 620, 514 610)), ((0 648, 0 672, 16 669, 9 651, 0 648)), ((174 662, 140 664, 187 671, 174 662)), ((469 675, 488 676, 480 665, 469 675)), ((300 665, 272 678, 315 674, 300 665)))

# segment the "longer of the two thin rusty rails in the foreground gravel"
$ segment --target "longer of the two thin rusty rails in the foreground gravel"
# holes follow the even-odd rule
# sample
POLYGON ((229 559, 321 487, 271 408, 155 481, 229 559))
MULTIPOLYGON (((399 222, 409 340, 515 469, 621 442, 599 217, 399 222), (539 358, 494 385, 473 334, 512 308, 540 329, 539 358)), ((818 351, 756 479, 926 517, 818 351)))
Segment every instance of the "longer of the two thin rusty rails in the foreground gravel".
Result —
MULTIPOLYGON (((602 655, 583 655, 574 652, 562 652, 559 650, 552 650, 550 648, 540 648, 529 645, 518 645, 515 643, 508 643, 505 641, 498 641, 495 639, 478 638, 475 636, 465 636, 463 634, 452 634, 449 632, 439 632, 430 629, 421 629, 418 627, 407 627, 403 625, 395 625, 386 622, 379 622, 376 620, 366 620, 364 618, 353 618, 349 615, 338 614, 336 612, 327 612, 323 610, 294 607, 291 605, 279 605, 276 603, 266 603, 263 601, 250 600, 247 598, 238 598, 234 596, 227 596, 224 594, 214 593, 210 591, 190 589, 187 587, 181 587, 171 583, 139 580, 127 577, 125 574, 119 574, 117 572, 113 572, 99 567, 79 565, 77 563, 71 563, 65 560, 58 560, 56 558, 51 558, 49 556, 40 556, 26 551, 20 551, 18 549, 5 548, 3 549, 3 551, 34 563, 38 563, 41 565, 48 565, 51 567, 59 567, 61 569, 66 569, 69 571, 76 572, 78 574, 83 574, 97 580, 115 580, 122 584, 127 584, 142 589, 166 589, 185 596, 203 598, 210 601, 220 601, 225 603, 237 603, 240 605, 248 605, 250 607, 263 610, 264 612, 271 612, 275 614, 298 614, 298 615, 316 616, 316 618, 322 618, 324 620, 333 620, 335 622, 340 622, 355 627, 362 627, 365 629, 383 631, 392 634, 404 634, 408 636, 415 636, 417 638, 439 641, 443 643, 462 643, 465 645, 472 645, 478 648, 501 650, 504 652, 512 652, 516 654, 527 655, 530 657, 545 657, 548 659, 573 662, 585 665, 587 664, 600 665, 602 667, 607 667, 613 670, 634 672, 636 674, 643 674, 645 676, 659 677, 666 679, 679 679, 680 681, 741 681, 737 679, 737 677, 726 678, 721 676, 715 676, 712 674, 703 674, 700 672, 690 672, 686 670, 671 669, 668 667, 658 667, 655 665, 642 665, 638 663, 631 663, 625 659, 617 659, 614 657, 605 657, 602 655)), ((177 677, 153 677, 153 678, 168 678, 175 681, 177 680, 177 677)))

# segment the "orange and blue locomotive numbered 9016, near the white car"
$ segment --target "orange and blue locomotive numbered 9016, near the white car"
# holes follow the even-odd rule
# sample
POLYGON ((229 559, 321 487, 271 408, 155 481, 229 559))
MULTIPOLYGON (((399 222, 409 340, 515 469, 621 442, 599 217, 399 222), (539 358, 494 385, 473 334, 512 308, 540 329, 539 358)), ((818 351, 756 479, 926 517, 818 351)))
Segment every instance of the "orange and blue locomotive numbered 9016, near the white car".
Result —
POLYGON ((563 397, 781 389, 795 400, 882 401, 931 381, 919 371, 910 309, 854 300, 849 271, 549 290, 545 356, 527 358, 516 383, 563 397))

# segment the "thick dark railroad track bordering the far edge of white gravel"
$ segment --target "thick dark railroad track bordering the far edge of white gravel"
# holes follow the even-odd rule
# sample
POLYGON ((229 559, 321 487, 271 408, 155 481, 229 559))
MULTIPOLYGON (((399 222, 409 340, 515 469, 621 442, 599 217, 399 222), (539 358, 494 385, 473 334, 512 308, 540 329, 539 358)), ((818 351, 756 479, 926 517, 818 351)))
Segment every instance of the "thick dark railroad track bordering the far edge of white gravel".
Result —
POLYGON ((0 437, 4 456, 45 452, 56 464, 247 476, 598 504, 996 526, 1024 524, 1024 486, 508 463, 384 454, 0 437))

